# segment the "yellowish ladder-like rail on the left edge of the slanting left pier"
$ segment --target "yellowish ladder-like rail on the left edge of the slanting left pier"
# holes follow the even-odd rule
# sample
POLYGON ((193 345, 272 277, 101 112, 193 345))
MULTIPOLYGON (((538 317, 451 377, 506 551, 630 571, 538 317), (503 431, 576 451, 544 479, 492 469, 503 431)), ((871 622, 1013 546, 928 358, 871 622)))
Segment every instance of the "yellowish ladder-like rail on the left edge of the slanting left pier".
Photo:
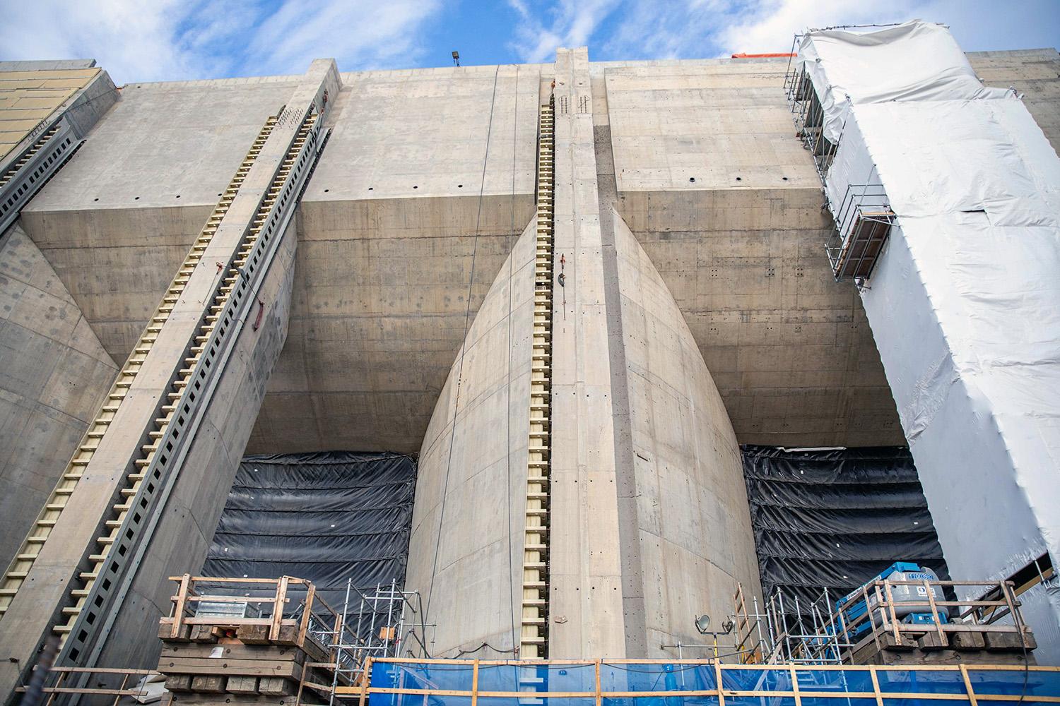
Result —
MULTIPOLYGON (((85 434, 82 436, 81 442, 77 445, 77 450, 74 452, 73 457, 67 465, 66 471, 61 476, 59 476, 59 481, 56 484, 55 489, 52 491, 48 502, 45 504, 45 507, 37 515, 33 528, 23 540, 22 545, 19 547, 18 553, 15 555, 15 558, 12 560, 7 571, 4 573, 3 578, 0 579, 0 620, 2 620, 7 607, 11 605, 15 595, 22 586, 30 569, 33 567, 34 562, 40 555, 40 551, 42 550, 45 543, 48 541, 52 528, 58 521, 59 515, 63 513, 63 510, 66 509, 67 504, 70 501, 70 496, 73 494, 74 489, 77 487, 77 482, 84 473, 85 467, 88 466, 95 453, 95 450, 99 448, 100 439, 103 438, 103 435, 110 427, 111 421, 113 421, 114 415, 118 413, 118 409, 121 406, 122 400, 125 398, 125 395, 131 386, 132 381, 136 379, 137 374, 140 372, 144 360, 147 358, 147 354, 151 351, 152 346, 158 338, 158 334, 162 329, 162 325, 166 322, 170 313, 173 311, 173 307, 183 293, 184 287, 191 278, 195 267, 202 259, 202 253, 205 252, 206 247, 210 243, 214 234, 217 232, 217 228, 220 224, 222 219, 225 217, 225 214, 228 213, 229 206, 231 206, 236 194, 238 194, 244 179, 250 171, 250 167, 253 165, 254 160, 257 160, 258 155, 261 152, 262 146, 265 144, 265 140, 271 133, 272 128, 276 125, 276 121, 277 119, 275 116, 269 117, 265 122, 265 125, 262 127, 258 137, 254 139, 242 164, 238 169, 236 169, 232 180, 229 182, 228 187, 223 192, 220 199, 217 201, 213 212, 207 219, 206 225, 202 227, 198 237, 189 250, 183 264, 177 270, 177 274, 174 276, 169 288, 165 290, 165 294, 163 294, 161 303, 158 305, 151 318, 151 321, 148 321, 147 326, 140 334, 136 345, 134 345, 132 351, 129 354, 128 359, 125 361, 125 364, 116 377, 114 382, 111 384, 98 414, 88 426, 85 434)), ((136 481, 136 478, 130 476, 130 481, 136 481)))

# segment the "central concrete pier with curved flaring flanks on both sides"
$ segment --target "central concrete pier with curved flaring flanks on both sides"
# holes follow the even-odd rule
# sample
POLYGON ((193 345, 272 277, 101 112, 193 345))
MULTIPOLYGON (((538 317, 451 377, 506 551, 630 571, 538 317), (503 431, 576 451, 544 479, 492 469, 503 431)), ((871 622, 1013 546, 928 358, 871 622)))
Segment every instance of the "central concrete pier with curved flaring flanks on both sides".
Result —
MULTIPOLYGON (((728 615, 738 582, 761 591, 732 426, 676 303, 615 212, 588 86, 586 50, 561 50, 549 619, 544 653, 519 654, 654 657, 695 641, 695 615, 728 615)), ((524 566, 522 511, 536 235, 534 222, 487 293, 421 451, 406 587, 426 597, 439 655, 515 651, 524 572, 536 574, 524 566)))

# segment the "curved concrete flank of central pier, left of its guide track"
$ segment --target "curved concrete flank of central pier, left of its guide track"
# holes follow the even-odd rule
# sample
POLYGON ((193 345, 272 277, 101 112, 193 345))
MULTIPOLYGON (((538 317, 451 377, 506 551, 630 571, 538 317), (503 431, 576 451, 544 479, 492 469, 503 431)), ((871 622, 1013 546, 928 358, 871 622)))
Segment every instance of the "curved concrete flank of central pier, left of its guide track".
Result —
POLYGON ((511 656, 523 596, 535 229, 501 267, 457 351, 420 451, 405 587, 435 656, 511 656))

